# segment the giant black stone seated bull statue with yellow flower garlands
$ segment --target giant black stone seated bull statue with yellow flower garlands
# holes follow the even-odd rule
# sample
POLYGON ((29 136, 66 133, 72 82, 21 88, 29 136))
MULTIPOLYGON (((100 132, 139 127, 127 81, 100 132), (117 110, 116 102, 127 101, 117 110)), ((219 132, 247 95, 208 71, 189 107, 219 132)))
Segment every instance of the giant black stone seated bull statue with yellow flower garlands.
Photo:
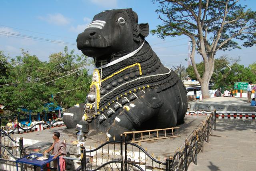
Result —
POLYGON ((77 47, 95 61, 86 103, 64 113, 68 128, 95 129, 116 140, 124 131, 175 127, 187 110, 186 88, 144 40, 148 23, 132 9, 94 16, 77 47))

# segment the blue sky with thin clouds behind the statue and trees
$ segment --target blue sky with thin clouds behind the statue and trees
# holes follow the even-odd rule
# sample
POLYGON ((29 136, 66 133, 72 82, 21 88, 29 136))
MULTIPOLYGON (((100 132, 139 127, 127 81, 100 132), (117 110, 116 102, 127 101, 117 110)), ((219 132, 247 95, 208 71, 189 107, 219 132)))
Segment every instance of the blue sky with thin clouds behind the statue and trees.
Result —
MULTIPOLYGON (((256 10, 254 0, 241 0, 242 4, 256 10)), ((20 48, 28 50, 30 54, 38 56, 40 60, 48 60, 52 53, 64 50, 65 44, 51 43, 42 40, 14 36, 34 36, 48 40, 68 42, 68 49, 75 50, 76 37, 83 32, 95 14, 108 9, 132 8, 139 17, 139 23, 149 23, 150 30, 156 28, 161 21, 154 12, 157 5, 151 0, 1 0, 0 1, 0 50, 11 58, 20 55, 20 48)), ((146 40, 161 59, 162 63, 170 68, 182 65, 187 67, 185 58, 188 58, 188 38, 177 36, 162 40, 156 35, 149 35, 146 40)), ((255 62, 256 47, 218 52, 216 58, 222 54, 237 58, 240 64, 248 66, 255 62)), ((196 62, 202 58, 195 56, 196 62)))

